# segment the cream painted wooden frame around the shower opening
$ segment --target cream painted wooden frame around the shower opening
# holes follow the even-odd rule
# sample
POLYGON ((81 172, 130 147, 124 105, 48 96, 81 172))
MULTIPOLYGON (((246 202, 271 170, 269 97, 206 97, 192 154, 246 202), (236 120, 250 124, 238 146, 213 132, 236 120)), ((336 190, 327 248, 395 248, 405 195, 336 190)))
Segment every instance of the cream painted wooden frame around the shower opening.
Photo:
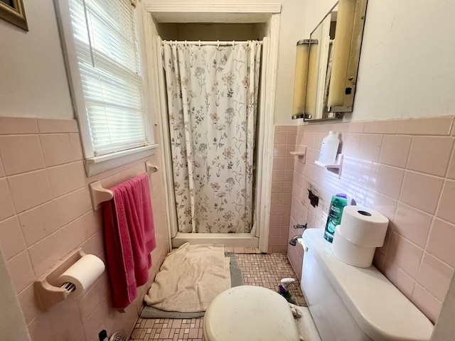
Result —
POLYGON ((160 86, 151 87, 155 99, 154 109, 156 124, 163 146, 164 181, 166 194, 166 215, 169 224, 169 239, 177 234, 175 197, 173 193, 173 176, 171 147, 168 144, 167 101, 164 82, 164 70, 161 62, 161 38, 156 25, 159 23, 266 23, 267 44, 264 44, 262 67, 263 86, 259 119, 259 139, 257 148, 257 193, 255 200, 255 236, 259 237, 259 249, 267 252, 269 244, 270 193, 272 189, 273 162, 273 122, 275 94, 277 88, 277 69, 279 54, 279 21, 281 4, 156 4, 145 2, 148 48, 151 50, 149 63, 152 81, 160 86))

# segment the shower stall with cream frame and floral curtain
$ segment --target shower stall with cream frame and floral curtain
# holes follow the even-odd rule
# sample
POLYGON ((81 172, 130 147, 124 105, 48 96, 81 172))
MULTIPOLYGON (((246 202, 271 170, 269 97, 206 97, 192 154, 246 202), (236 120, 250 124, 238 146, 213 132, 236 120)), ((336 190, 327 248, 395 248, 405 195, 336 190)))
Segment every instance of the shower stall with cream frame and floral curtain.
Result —
POLYGON ((172 247, 267 251, 279 28, 272 7, 257 15, 146 6, 172 247))

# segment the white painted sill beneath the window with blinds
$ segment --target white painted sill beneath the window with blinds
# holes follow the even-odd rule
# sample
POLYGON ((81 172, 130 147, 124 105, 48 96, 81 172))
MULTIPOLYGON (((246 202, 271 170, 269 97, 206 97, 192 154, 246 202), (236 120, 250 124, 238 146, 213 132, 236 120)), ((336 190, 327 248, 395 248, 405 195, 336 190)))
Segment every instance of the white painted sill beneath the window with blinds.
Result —
POLYGON ((95 156, 94 158, 85 159, 85 173, 87 177, 97 175, 105 171, 109 171, 119 166, 124 166, 127 163, 146 158, 156 153, 157 144, 151 146, 139 147, 129 149, 127 151, 117 151, 102 156, 95 156))

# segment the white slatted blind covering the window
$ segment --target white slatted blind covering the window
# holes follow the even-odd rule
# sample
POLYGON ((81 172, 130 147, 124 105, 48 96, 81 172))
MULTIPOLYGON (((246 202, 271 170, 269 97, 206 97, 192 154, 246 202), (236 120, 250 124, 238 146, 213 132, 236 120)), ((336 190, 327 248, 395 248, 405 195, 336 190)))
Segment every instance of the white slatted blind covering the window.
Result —
POLYGON ((69 7, 94 155, 147 146, 134 6, 70 0, 69 7))

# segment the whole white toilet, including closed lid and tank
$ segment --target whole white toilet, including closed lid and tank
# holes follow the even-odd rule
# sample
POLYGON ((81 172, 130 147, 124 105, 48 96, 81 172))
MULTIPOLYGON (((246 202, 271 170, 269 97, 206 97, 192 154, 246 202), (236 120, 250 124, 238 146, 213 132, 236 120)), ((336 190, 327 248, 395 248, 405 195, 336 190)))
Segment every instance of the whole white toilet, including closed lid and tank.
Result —
POLYGON ((433 325, 374 266, 339 261, 323 229, 303 235, 301 289, 309 307, 275 291, 237 286, 205 312, 205 341, 426 341, 433 325))

